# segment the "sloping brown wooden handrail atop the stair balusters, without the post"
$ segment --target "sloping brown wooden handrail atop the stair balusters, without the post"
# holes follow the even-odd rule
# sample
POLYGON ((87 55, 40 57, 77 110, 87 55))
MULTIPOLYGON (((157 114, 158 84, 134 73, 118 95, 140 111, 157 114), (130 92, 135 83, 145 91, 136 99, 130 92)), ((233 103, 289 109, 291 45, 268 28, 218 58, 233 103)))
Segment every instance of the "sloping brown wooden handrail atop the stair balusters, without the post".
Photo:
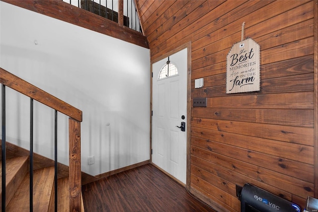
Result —
POLYGON ((81 122, 82 111, 0 68, 0 83, 81 122))

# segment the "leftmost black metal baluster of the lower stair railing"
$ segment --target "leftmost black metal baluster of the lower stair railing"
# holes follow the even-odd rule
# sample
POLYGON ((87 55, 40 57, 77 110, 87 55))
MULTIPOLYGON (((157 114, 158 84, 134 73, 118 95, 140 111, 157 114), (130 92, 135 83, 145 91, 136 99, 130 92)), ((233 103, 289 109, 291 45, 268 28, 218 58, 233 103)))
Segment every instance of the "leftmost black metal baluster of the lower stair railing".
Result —
POLYGON ((2 212, 5 212, 5 86, 2 85, 1 87, 1 92, 2 92, 2 96, 1 96, 1 109, 2 109, 2 113, 1 113, 1 131, 2 131, 2 137, 1 137, 1 160, 2 160, 2 198, 1 198, 1 209, 2 212))

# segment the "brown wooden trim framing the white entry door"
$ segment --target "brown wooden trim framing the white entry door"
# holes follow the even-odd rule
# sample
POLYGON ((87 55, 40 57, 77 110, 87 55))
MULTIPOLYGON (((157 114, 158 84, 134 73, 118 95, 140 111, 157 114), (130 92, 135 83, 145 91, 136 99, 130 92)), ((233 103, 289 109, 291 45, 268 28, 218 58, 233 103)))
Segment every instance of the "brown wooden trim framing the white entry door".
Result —
POLYGON ((152 110, 153 110, 153 64, 174 54, 182 49, 187 48, 187 165, 186 165, 186 189, 190 190, 190 175, 191 175, 191 41, 173 49, 158 58, 150 61, 150 163, 152 161, 152 110))

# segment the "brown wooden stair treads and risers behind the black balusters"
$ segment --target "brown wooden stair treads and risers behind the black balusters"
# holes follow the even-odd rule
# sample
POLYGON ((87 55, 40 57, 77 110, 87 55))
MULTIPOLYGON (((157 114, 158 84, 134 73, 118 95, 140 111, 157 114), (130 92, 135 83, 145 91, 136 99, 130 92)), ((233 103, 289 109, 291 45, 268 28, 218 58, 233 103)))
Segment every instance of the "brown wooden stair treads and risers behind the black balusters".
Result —
MULTIPOLYGON (((28 151, 20 149, 17 151, 13 150, 14 152, 12 152, 12 148, 20 149, 13 144, 7 143, 5 211, 29 212, 29 156, 25 155, 28 151)), ((63 171, 63 169, 66 170, 64 165, 62 165, 62 169, 60 169, 62 173, 59 174, 58 179, 58 212, 69 212, 69 177, 65 177, 65 171, 63 171)), ((2 195, 2 188, 0 195, 2 195)), ((54 196, 54 162, 35 154, 33 170, 33 211, 54 212, 54 196)))

